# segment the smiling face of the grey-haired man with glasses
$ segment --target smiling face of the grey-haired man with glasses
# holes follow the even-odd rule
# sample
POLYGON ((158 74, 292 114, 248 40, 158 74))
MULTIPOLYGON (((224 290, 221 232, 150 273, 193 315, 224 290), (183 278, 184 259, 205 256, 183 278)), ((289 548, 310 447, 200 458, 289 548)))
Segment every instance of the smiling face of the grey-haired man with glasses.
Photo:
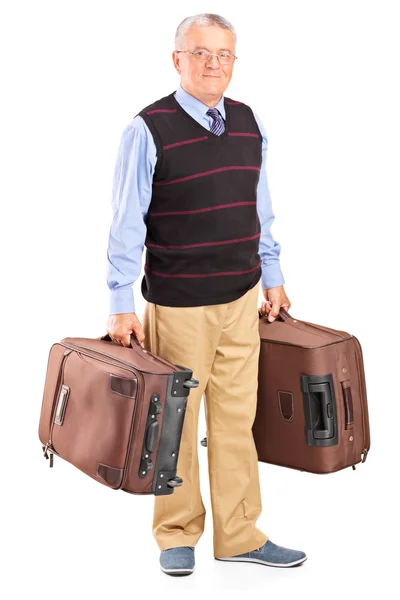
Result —
MULTIPOLYGON (((191 27, 186 35, 182 48, 178 50, 208 50, 218 54, 222 50, 236 53, 233 34, 228 29, 212 25, 210 27, 191 27)), ((207 63, 202 63, 192 54, 172 54, 174 65, 181 75, 182 87, 192 96, 218 100, 229 85, 233 72, 231 65, 221 65, 216 56, 212 56, 207 63)))

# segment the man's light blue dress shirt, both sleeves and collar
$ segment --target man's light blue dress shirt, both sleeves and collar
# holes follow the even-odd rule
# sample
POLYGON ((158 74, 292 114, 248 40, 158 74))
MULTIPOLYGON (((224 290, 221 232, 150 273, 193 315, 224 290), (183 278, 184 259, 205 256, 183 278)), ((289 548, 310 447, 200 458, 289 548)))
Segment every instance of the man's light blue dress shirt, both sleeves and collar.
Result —
MULTIPOLYGON (((212 118, 206 114, 209 106, 186 92, 181 85, 175 98, 182 108, 200 125, 210 130, 212 118)), ((225 119, 224 96, 216 105, 225 119)), ((280 244, 270 232, 275 219, 266 174, 268 139, 265 129, 254 113, 262 133, 262 165, 257 185, 257 212, 261 224, 259 255, 261 287, 268 289, 283 285, 279 255, 280 244)), ((135 312, 132 285, 142 269, 142 254, 146 239, 145 218, 152 196, 157 150, 145 121, 137 115, 125 127, 119 145, 112 187, 113 218, 107 249, 107 285, 110 290, 110 315, 135 312)))

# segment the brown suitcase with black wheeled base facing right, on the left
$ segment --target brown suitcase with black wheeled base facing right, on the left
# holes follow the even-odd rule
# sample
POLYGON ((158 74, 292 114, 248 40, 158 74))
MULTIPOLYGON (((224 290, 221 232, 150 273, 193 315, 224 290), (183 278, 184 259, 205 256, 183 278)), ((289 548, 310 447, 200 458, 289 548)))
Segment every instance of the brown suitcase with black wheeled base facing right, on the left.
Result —
POLYGON ((108 334, 52 345, 39 420, 43 454, 132 494, 172 494, 193 371, 108 334))

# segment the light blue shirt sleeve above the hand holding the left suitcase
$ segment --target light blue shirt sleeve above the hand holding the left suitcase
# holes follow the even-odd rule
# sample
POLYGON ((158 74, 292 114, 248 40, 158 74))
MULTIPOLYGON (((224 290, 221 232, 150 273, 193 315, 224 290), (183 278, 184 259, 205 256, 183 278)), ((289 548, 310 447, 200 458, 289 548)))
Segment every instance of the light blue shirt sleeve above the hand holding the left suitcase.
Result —
POLYGON ((122 133, 114 170, 107 249, 110 315, 135 312, 132 286, 142 268, 156 158, 153 137, 138 115, 122 133))

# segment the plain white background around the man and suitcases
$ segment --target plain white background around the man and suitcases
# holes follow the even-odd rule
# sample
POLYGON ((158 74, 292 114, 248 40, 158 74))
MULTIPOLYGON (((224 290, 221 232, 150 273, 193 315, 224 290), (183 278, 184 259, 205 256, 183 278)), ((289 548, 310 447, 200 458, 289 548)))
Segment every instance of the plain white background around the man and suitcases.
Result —
MULTIPOLYGON (((4 598, 398 593, 398 8, 383 0, 3 7, 4 598), (106 333, 122 130, 177 88, 176 27, 206 11, 230 20, 238 35, 225 93, 252 106, 269 138, 271 231, 282 246, 290 313, 361 342, 371 450, 355 471, 325 476, 259 463, 258 526, 308 556, 299 568, 279 569, 214 560, 207 450, 199 444, 206 530, 195 573, 173 578, 159 567, 154 498, 110 490, 57 457, 49 469, 37 429, 51 344, 106 333)), ((142 275, 134 286, 139 316, 142 275)), ((204 435, 202 407, 199 442, 204 435)))

